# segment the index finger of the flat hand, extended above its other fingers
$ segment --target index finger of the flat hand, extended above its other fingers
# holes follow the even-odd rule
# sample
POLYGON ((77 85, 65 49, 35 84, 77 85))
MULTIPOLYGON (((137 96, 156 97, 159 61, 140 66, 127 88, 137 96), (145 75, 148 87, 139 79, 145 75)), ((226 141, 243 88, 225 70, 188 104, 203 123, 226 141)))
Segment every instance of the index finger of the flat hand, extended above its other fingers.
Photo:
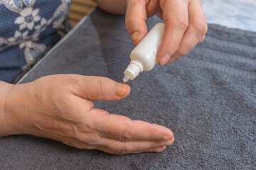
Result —
POLYGON ((130 120, 123 115, 109 114, 100 109, 92 109, 93 124, 101 137, 115 140, 162 140, 167 142, 174 137, 173 132, 161 125, 130 120))

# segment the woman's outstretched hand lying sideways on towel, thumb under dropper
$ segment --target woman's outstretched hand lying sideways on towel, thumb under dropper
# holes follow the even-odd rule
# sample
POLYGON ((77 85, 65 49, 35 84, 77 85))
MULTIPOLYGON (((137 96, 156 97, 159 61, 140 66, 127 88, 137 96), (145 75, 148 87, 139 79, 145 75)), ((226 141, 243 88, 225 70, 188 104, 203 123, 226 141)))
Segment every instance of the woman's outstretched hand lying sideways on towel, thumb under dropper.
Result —
POLYGON ((111 79, 75 74, 9 86, 2 129, 8 135, 31 134, 112 154, 163 151, 174 143, 168 128, 93 107, 95 100, 117 101, 129 91, 128 85, 111 79))

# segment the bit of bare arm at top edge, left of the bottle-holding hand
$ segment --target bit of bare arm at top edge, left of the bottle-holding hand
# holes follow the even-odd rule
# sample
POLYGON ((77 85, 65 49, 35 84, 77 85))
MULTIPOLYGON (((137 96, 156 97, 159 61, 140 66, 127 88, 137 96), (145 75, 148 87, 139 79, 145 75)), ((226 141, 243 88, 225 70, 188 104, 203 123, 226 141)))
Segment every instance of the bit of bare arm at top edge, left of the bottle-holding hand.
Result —
POLYGON ((126 0, 94 0, 102 10, 108 13, 124 14, 127 8, 126 0))

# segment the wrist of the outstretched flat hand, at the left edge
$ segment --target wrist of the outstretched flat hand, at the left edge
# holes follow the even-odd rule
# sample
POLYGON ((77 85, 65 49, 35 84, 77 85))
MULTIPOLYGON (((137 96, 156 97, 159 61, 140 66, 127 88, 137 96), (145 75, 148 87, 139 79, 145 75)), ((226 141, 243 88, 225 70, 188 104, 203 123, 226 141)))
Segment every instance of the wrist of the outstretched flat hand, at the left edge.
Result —
POLYGON ((0 86, 0 94, 3 96, 0 99, 0 122, 3 122, 0 125, 0 137, 26 134, 29 113, 27 84, 1 82, 0 86))

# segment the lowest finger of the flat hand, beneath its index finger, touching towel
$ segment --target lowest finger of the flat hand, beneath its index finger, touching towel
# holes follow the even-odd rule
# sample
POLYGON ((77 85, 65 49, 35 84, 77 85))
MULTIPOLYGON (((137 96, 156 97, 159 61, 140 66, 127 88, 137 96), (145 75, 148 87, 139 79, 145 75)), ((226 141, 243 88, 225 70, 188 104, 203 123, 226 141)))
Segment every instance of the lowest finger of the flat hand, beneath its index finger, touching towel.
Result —
POLYGON ((142 152, 149 149, 155 149, 163 146, 171 146, 174 143, 174 137, 168 142, 162 141, 119 141, 110 138, 102 138, 97 145, 104 146, 117 154, 130 154, 142 152))

